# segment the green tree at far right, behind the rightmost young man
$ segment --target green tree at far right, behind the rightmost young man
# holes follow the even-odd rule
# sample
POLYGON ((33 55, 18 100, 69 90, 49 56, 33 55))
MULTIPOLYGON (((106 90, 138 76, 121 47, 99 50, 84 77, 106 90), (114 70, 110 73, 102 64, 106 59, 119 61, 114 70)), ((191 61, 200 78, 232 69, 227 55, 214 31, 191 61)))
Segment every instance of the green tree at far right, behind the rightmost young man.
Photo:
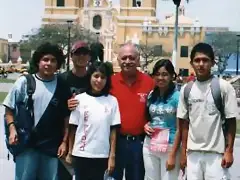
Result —
POLYGON ((215 52, 218 72, 222 74, 229 57, 237 51, 236 32, 213 32, 206 34, 205 42, 209 43, 215 52))

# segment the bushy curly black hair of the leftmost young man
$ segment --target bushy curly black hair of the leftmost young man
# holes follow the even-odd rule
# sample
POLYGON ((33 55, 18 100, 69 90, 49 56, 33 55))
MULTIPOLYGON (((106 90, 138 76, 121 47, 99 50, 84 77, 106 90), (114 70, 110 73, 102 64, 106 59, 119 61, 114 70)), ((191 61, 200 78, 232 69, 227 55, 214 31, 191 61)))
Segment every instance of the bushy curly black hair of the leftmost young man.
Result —
POLYGON ((65 56, 63 54, 62 49, 55 44, 51 44, 49 42, 41 44, 36 51, 33 53, 32 60, 30 62, 34 72, 37 73, 39 69, 39 62, 41 58, 47 54, 53 55, 57 60, 57 69, 60 69, 62 64, 65 62, 65 56))

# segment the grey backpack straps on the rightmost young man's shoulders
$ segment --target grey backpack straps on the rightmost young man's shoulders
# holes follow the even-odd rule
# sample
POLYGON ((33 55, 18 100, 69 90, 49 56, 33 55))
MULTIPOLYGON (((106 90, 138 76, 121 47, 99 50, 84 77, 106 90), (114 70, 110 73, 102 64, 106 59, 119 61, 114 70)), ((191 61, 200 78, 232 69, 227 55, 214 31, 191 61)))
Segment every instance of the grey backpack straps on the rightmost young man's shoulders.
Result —
MULTIPOLYGON (((188 82, 183 91, 184 101, 187 106, 187 109, 189 107, 188 98, 189 98, 189 94, 190 94, 193 84, 194 84, 194 81, 188 82)), ((226 118, 225 118, 225 114, 224 114, 224 102, 223 102, 223 98, 221 95, 220 82, 217 77, 215 77, 215 76, 212 77, 210 88, 211 88, 214 104, 221 114, 222 129, 223 129, 224 137, 226 139, 226 124, 225 124, 226 118)))

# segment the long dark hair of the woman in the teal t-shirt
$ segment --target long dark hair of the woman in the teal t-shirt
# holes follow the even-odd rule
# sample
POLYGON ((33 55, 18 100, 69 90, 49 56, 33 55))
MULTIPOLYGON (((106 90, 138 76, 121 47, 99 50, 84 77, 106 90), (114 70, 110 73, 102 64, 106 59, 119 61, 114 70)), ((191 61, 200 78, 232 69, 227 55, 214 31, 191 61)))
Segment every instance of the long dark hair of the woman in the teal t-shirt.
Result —
MULTIPOLYGON (((158 70, 162 67, 164 67, 167 70, 167 72, 174 79, 176 78, 177 74, 175 73, 174 66, 169 59, 161 59, 161 60, 157 61, 156 64, 154 65, 154 67, 153 67, 152 76, 155 76, 157 74, 158 70)), ((150 98, 149 98, 149 103, 150 104, 157 101, 157 99, 159 97, 159 94, 160 94, 159 93, 160 91, 161 90, 157 86, 153 89, 153 92, 151 93, 150 98)), ((175 91, 175 84, 174 84, 174 82, 171 81, 169 83, 168 90, 165 92, 165 94, 163 96, 164 103, 166 103, 167 98, 170 95, 172 95, 174 91, 175 91)))

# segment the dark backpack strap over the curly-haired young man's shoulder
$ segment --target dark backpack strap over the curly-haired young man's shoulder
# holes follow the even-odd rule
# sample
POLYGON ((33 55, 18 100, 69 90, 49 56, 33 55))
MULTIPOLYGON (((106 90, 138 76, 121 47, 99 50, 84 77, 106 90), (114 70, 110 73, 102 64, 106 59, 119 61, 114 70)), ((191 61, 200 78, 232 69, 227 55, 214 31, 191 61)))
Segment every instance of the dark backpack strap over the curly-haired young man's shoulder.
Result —
POLYGON ((28 110, 31 112, 32 117, 34 117, 32 95, 34 94, 36 89, 36 81, 32 74, 27 74, 25 75, 25 77, 27 79, 27 95, 28 95, 27 107, 28 107, 28 110))

